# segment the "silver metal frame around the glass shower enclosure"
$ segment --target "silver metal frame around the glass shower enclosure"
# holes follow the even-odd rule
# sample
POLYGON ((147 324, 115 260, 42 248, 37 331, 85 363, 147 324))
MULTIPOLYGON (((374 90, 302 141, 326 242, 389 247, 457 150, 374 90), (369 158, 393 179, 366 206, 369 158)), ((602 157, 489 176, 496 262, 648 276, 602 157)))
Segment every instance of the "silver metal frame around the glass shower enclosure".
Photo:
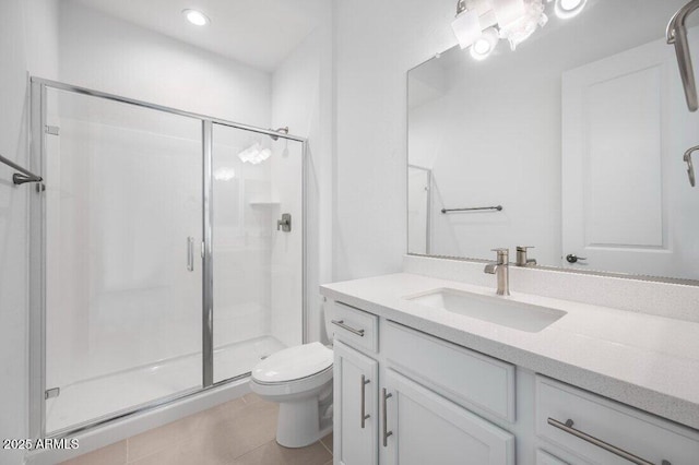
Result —
POLYGON ((105 92, 93 91, 71 84, 31 76, 29 86, 29 169, 46 179, 46 132, 47 88, 72 92, 91 97, 133 105, 171 115, 179 115, 201 121, 202 126, 202 229, 203 229, 203 273, 202 273, 202 388, 194 388, 167 397, 156 398, 133 408, 120 410, 92 419, 63 430, 46 433, 46 198, 44 183, 37 183, 29 193, 29 437, 64 438, 92 430, 127 417, 135 416, 208 390, 248 378, 250 372, 214 383, 214 338, 213 338, 213 126, 221 124, 244 131, 266 134, 279 139, 300 142, 301 145, 301 341, 308 342, 308 289, 307 289, 307 179, 308 140, 293 134, 284 134, 271 129, 257 128, 205 115, 179 110, 105 92))

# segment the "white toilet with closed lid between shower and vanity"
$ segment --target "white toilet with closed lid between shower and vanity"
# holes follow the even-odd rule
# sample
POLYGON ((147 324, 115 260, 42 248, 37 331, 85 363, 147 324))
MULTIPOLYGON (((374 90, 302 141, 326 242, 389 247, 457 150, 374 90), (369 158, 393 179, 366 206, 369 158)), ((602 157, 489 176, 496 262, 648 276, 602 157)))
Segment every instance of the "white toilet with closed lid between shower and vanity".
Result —
MULTIPOLYGON (((329 327, 329 312, 323 313, 329 327)), ((332 431, 332 348, 310 343, 274 353, 252 369, 250 390, 280 404, 281 445, 304 448, 332 431)))

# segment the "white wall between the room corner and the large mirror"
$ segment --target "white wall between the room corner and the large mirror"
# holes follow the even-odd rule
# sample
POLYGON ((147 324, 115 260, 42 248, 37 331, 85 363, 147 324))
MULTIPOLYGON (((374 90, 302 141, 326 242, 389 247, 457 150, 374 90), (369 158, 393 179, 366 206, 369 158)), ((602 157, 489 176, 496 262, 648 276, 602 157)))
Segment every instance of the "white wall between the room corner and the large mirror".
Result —
POLYGON ((333 278, 401 269, 406 72, 455 43, 452 0, 337 0, 333 278))

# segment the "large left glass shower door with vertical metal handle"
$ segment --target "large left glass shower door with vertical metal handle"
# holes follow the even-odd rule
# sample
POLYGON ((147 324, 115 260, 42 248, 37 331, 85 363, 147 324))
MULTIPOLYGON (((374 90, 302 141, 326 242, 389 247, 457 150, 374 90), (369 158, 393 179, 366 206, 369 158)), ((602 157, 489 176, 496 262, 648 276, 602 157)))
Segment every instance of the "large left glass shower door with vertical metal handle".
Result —
POLYGON ((202 385, 202 123, 47 88, 46 430, 202 385))

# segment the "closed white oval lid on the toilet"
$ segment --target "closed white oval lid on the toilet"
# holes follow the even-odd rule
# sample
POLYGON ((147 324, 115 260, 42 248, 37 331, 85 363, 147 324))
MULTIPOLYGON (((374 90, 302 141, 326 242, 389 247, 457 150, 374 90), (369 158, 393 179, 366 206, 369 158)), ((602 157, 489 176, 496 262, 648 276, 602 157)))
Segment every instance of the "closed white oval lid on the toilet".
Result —
POLYGON ((252 378, 261 383, 283 383, 308 378, 332 367, 333 353, 320 343, 285 348, 260 361, 252 378))

